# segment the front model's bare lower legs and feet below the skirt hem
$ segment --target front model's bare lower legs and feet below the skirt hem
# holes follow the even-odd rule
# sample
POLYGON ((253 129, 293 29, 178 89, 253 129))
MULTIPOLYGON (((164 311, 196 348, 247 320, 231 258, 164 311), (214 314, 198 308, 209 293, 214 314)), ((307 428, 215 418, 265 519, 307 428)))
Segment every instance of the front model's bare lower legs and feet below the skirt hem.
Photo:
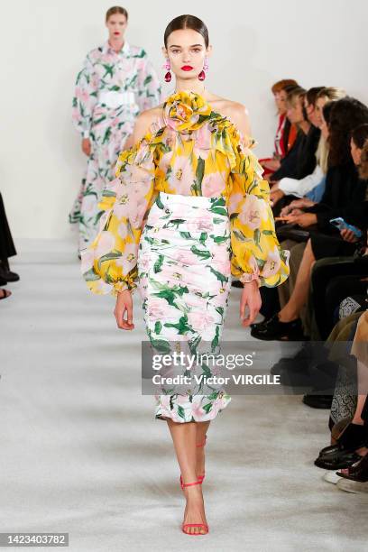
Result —
MULTIPOLYGON (((197 476, 197 422, 180 423, 168 419, 168 426, 181 472, 183 483, 198 481, 197 476)), ((184 523, 206 523, 205 504, 203 501, 202 485, 184 487, 187 505, 184 512, 184 523)), ((202 527, 189 527, 188 533, 202 533, 207 531, 202 527)))

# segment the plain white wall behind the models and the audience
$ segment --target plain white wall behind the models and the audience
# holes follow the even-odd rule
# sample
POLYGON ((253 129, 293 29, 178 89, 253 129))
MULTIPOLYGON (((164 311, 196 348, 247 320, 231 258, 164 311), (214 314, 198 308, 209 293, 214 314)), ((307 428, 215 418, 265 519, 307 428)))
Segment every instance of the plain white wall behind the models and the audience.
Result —
MULTIPOLYGON (((70 235, 67 216, 86 161, 70 118, 74 81, 87 51, 106 40, 111 5, 114 0, 1 3, 0 190, 15 239, 70 235)), ((214 46, 207 87, 248 107, 258 156, 272 151, 275 80, 345 87, 368 102, 366 0, 121 5, 130 15, 127 40, 148 51, 162 77, 166 24, 184 11, 207 23, 214 46)))

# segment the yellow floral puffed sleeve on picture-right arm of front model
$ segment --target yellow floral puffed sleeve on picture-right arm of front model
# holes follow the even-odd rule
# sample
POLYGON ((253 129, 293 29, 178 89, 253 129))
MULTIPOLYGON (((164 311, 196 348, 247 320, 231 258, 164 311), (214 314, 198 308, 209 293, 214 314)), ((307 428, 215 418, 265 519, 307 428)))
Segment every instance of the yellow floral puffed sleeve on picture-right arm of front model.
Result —
POLYGON ((231 228, 232 274, 243 283, 280 285, 289 276, 290 252, 282 250, 275 233, 270 189, 262 167, 237 131, 232 135, 234 157, 230 173, 228 212, 231 228))

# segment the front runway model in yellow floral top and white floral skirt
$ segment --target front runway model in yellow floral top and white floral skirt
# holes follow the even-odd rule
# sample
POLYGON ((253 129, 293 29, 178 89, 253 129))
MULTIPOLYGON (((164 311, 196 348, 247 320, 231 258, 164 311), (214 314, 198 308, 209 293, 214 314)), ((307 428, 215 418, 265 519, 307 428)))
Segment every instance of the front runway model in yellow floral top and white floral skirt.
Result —
MULTIPOLYGON (((134 145, 120 154, 106 190, 100 231, 82 252, 88 288, 116 296, 118 327, 133 329, 138 287, 154 347, 182 341, 195 350, 206 341, 215 348, 231 275, 244 283, 240 317, 248 327, 261 307, 259 286, 289 274, 246 109, 204 87, 211 50, 197 17, 169 23, 165 78, 173 73, 175 92, 138 117, 134 145)), ((187 501, 181 529, 189 535, 208 532, 204 445, 210 421, 230 400, 225 391, 156 395, 155 417, 167 420, 179 463, 187 501)))

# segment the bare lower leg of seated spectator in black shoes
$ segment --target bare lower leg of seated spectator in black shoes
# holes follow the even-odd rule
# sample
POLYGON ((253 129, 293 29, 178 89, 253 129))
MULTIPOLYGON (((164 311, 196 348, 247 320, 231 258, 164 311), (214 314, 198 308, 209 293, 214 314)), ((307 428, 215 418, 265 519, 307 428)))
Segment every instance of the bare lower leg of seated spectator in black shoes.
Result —
POLYGON ((301 308, 306 304, 308 298, 308 289, 310 281, 310 269, 316 261, 312 251, 310 240, 304 250, 303 258, 300 263, 297 281, 294 290, 291 293, 288 303, 281 308, 279 318, 281 322, 291 322, 299 317, 301 308))

